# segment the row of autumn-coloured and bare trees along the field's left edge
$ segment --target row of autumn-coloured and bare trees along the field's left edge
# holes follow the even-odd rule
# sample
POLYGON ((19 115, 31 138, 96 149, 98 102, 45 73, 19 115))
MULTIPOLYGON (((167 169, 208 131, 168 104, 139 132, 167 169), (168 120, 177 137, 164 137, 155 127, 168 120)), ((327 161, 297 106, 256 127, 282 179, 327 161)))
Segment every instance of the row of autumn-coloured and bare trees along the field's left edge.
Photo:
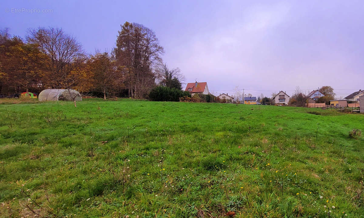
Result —
POLYGON ((156 86, 182 89, 184 76, 162 60, 154 31, 138 23, 120 25, 111 52, 87 54, 61 28, 29 29, 25 39, 0 31, 0 93, 39 93, 47 88, 148 98, 156 86))

